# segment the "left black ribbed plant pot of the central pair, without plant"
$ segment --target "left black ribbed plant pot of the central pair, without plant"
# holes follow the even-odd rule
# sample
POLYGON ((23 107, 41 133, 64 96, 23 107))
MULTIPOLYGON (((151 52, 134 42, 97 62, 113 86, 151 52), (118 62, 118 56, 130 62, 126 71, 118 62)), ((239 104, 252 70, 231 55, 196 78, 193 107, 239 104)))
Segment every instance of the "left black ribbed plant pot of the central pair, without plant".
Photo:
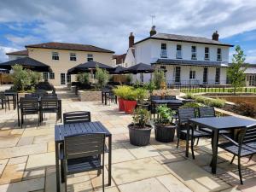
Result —
POLYGON ((128 125, 130 143, 136 146, 146 146, 150 140, 152 126, 147 125, 146 128, 138 129, 134 124, 128 125))

